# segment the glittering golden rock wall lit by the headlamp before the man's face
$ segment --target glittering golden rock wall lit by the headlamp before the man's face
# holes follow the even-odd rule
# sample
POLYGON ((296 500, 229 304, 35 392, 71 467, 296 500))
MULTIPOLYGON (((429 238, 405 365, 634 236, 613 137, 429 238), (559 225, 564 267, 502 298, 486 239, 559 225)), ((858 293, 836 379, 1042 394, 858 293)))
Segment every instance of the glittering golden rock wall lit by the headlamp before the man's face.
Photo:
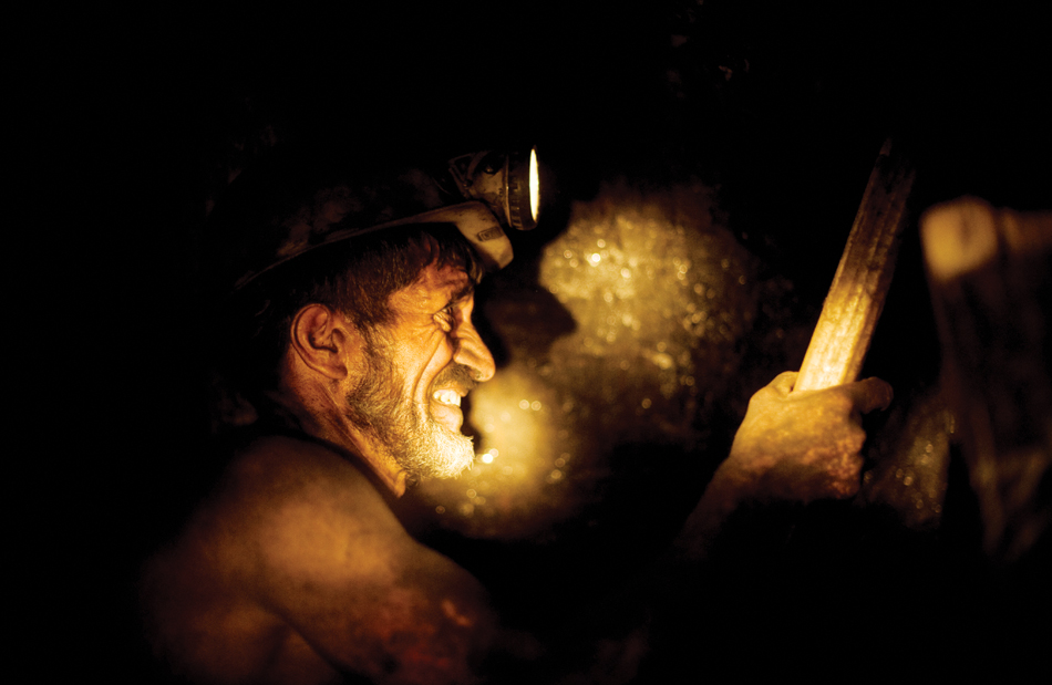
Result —
POLYGON ((684 469, 722 458, 704 452, 710 418, 738 392, 770 284, 712 210, 701 185, 609 186, 575 204, 537 260, 497 274, 484 312, 498 371, 470 397, 475 468, 415 494, 442 526, 529 537, 609 499, 611 484, 659 506, 684 469))

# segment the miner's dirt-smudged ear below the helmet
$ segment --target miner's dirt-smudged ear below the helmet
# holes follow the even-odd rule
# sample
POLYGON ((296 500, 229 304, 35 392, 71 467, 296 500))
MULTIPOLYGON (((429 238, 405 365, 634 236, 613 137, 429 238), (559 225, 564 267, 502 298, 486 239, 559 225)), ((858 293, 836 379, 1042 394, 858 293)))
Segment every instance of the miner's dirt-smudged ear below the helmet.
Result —
POLYGON ((359 347, 358 331, 345 316, 324 304, 308 304, 292 318, 292 352, 309 369, 340 381, 348 374, 349 355, 359 347))

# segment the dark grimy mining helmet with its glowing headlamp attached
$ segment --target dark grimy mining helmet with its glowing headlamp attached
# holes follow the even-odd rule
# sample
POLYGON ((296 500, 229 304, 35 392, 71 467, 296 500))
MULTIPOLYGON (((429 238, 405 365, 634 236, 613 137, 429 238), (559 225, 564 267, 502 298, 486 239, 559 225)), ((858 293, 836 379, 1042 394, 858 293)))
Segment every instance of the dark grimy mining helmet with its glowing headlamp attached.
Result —
POLYGON ((245 172, 209 217, 215 287, 236 292, 323 246, 416 224, 452 224, 487 270, 512 260, 505 229, 537 225, 536 147, 454 157, 445 168, 368 156, 293 155, 245 172), (353 170, 345 170, 353 163, 353 170))

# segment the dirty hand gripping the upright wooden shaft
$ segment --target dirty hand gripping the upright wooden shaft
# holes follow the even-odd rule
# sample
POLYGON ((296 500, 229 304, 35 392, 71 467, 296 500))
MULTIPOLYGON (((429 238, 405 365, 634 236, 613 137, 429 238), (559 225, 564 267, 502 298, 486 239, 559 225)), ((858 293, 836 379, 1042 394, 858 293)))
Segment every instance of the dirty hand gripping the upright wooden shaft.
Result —
POLYGON ((792 392, 796 376, 783 373, 752 396, 721 470, 732 470, 752 499, 850 497, 858 492, 866 440, 860 415, 887 408, 891 386, 866 378, 792 392))

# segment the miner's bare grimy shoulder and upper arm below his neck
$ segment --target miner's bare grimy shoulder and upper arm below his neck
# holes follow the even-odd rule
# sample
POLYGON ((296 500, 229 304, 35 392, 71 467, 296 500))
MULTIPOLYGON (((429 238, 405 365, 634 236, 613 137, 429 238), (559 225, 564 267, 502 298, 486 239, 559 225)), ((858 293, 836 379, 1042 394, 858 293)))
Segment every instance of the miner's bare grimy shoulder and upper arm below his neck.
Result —
POLYGON ((238 453, 155 564, 156 640, 173 661, 223 664, 231 679, 306 664, 377 683, 472 681, 495 627, 485 591, 406 533, 364 468, 290 437, 238 453))

